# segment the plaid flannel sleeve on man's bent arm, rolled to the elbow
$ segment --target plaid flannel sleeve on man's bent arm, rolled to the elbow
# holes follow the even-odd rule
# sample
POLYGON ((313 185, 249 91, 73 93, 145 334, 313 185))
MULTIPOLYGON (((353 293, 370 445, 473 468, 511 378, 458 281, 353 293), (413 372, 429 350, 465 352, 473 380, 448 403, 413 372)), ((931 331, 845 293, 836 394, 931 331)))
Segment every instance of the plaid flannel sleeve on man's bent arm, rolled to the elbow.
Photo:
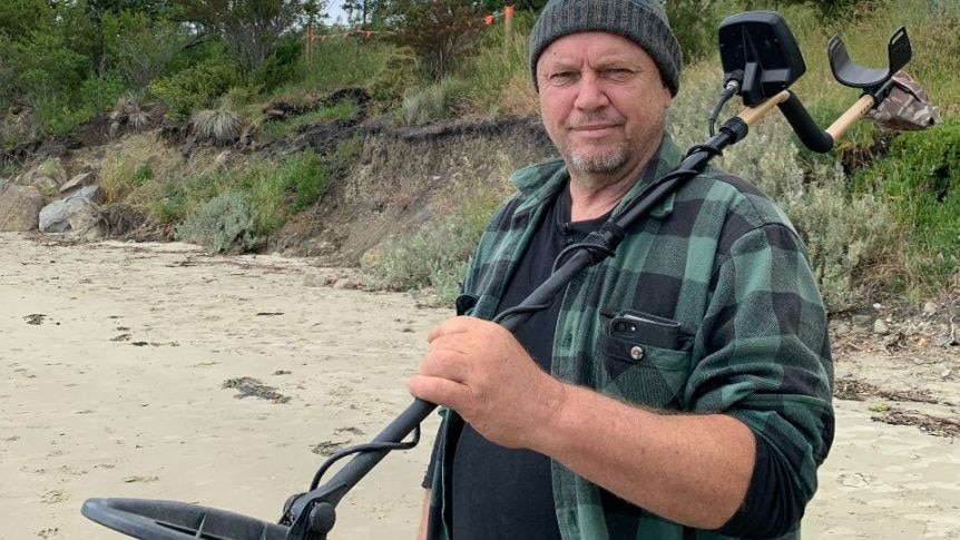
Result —
MULTIPOLYGON (((748 531, 727 529, 787 512, 790 519, 777 520, 780 530, 765 531, 776 536, 803 516, 816 491, 816 468, 833 442, 826 313, 805 249, 782 224, 762 225, 732 240, 711 289, 686 402, 695 412, 724 412, 744 422, 757 438, 758 453, 771 461, 767 472, 776 473, 772 492, 777 497, 758 504, 748 492, 722 531, 748 538, 748 531)), ((770 480, 754 478, 751 490, 770 480)))

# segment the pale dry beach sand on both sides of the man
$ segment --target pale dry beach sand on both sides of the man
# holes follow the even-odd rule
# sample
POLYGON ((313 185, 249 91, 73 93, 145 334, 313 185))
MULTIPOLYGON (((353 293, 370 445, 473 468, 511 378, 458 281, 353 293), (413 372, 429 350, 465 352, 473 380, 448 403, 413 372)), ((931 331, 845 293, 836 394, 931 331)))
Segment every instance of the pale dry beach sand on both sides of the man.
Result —
MULTIPOLYGON (((276 520, 323 462, 314 450, 368 442, 410 404, 427 330, 449 314, 323 285, 332 272, 184 244, 0 235, 0 540, 127 538, 81 517, 90 497, 276 520), (223 385, 239 377, 288 401, 237 399, 223 385)), ((925 384, 874 364, 854 359, 837 375, 925 384)), ((953 403, 929 406, 957 420, 960 385, 931 384, 953 403)), ((876 400, 836 404, 804 537, 960 538, 960 445, 871 421, 876 400)), ((332 538, 413 538, 435 428, 433 415, 420 446, 347 495, 332 538)))

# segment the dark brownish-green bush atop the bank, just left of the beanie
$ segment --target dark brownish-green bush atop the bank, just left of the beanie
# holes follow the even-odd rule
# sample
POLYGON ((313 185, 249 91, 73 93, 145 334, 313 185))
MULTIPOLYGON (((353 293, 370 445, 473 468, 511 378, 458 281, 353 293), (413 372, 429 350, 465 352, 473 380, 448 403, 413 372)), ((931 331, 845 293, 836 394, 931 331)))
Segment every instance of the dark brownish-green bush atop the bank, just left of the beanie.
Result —
POLYGON ((413 49, 438 80, 470 52, 483 28, 483 11, 469 0, 394 0, 388 17, 394 40, 413 49))

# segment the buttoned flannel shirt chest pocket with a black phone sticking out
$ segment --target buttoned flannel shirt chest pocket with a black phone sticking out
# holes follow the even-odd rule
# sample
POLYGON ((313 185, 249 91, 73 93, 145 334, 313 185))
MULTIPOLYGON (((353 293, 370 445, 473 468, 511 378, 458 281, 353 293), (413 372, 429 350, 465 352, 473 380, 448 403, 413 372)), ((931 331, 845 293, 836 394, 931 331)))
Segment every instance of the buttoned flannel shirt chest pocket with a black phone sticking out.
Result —
POLYGON ((692 334, 636 312, 608 318, 600 337, 605 393, 656 409, 684 409, 692 334))

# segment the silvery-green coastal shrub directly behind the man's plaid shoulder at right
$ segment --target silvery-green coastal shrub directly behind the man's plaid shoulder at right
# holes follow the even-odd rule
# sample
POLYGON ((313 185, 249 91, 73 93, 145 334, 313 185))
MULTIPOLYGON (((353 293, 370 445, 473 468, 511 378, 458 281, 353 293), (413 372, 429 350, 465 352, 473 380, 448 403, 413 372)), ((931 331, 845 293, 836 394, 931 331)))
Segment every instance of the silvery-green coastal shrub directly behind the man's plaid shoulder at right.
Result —
MULTIPOLYGON (((718 73, 690 71, 668 119, 682 148, 708 138, 707 117, 721 88, 718 73)), ((728 105, 718 125, 735 111, 728 105)), ((862 301, 866 284, 859 278, 890 256, 899 230, 885 203, 846 194, 839 158, 804 169, 790 126, 773 111, 713 164, 757 186, 790 217, 807 247, 827 310, 849 310, 862 301)))

